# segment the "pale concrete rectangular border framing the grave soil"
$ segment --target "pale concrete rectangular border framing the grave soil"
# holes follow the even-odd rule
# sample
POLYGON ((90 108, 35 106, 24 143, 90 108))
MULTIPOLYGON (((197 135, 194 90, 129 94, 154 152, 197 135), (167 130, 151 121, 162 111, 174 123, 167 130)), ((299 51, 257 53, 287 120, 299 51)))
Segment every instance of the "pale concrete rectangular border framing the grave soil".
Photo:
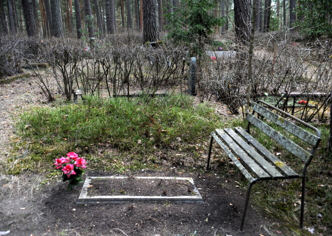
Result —
POLYGON ((98 204, 98 203, 122 203, 122 202, 132 202, 132 201, 175 201, 175 202, 197 202, 197 203, 204 203, 201 194, 199 193, 197 187, 194 184, 193 178, 187 177, 139 177, 135 176, 136 179, 177 179, 177 180, 187 180, 193 186, 193 192, 196 195, 193 196, 128 196, 128 195, 100 195, 100 196, 88 196, 88 186, 92 179, 124 179, 128 177, 124 176, 89 176, 86 178, 82 190, 80 192, 79 198, 76 201, 76 204, 98 204))

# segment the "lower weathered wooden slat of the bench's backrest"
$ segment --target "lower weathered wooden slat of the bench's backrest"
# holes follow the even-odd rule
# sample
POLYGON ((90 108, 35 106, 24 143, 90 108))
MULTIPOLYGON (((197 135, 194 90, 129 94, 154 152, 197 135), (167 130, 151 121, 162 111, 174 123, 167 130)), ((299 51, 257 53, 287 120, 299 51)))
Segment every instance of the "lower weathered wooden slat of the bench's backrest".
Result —
POLYGON ((286 148, 288 151, 290 151, 292 154, 300 158, 303 162, 308 163, 311 154, 304 150, 302 147, 297 145, 296 143, 293 143, 289 139, 287 139, 285 136, 280 134, 278 131, 271 128, 269 125, 265 124, 260 119, 256 118, 252 114, 248 114, 246 119, 250 121, 252 124, 254 124, 256 127, 258 127, 260 130, 262 130, 265 134, 270 136, 273 140, 277 141, 280 145, 282 145, 284 148, 286 148))

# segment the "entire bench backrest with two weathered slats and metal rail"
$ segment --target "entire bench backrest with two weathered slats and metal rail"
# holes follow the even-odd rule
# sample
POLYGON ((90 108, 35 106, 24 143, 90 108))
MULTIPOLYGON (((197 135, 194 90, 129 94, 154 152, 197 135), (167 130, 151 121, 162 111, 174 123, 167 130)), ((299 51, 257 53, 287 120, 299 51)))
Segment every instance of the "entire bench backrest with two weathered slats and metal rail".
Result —
POLYGON ((304 163, 307 165, 310 163, 315 148, 318 146, 320 142, 320 131, 315 127, 305 123, 304 121, 264 102, 259 100, 257 103, 252 102, 251 108, 253 109, 252 114, 247 114, 246 119, 248 120, 248 130, 250 128, 250 124, 255 125, 260 130, 262 130, 265 134, 270 136, 273 140, 278 142, 281 146, 287 149, 289 152, 300 158, 304 163), (264 106, 260 105, 263 104, 264 106), (297 121, 298 123, 314 130, 316 135, 302 129, 301 127, 293 124, 292 122, 288 121, 287 119, 277 115, 276 113, 270 111, 275 110, 283 114, 286 118, 290 118, 292 120, 297 121), (282 127, 283 129, 287 130, 289 133, 293 134, 294 136, 298 137, 299 139, 303 140, 307 144, 309 144, 312 149, 311 152, 308 152, 304 148, 300 147, 293 141, 286 138, 284 135, 273 129, 271 126, 267 125, 261 119, 254 116, 255 112, 260 114, 261 116, 267 118, 268 120, 272 121, 273 123, 277 124, 278 126, 282 127))

